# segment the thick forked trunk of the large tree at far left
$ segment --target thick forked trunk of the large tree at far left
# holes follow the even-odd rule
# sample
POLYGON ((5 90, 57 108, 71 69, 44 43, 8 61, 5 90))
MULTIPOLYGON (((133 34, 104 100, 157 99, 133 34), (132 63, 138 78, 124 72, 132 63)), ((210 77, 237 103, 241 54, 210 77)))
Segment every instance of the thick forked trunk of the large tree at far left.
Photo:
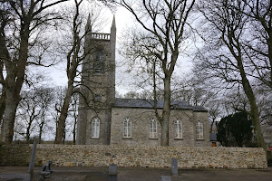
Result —
MULTIPOLYGON (((24 83, 25 66, 27 62, 28 53, 28 38, 29 38, 29 23, 27 21, 21 24, 22 29, 20 30, 21 43, 19 48, 19 58, 14 61, 10 56, 6 56, 5 59, 5 116, 3 119, 3 135, 1 140, 5 143, 12 143, 14 137, 14 126, 15 126, 15 114, 18 103, 20 101, 20 92, 24 83)), ((5 50, 8 54, 8 51, 5 50)))

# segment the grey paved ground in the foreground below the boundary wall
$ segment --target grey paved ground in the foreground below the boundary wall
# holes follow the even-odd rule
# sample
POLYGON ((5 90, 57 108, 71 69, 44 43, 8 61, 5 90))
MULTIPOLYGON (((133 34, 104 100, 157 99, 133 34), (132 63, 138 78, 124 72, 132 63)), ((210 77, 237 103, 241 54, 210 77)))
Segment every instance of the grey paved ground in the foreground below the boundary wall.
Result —
MULTIPOLYGON (((28 167, 0 167, 0 181, 27 181, 28 167)), ((34 181, 40 181, 41 167, 34 167, 34 181)), ((272 181, 272 167, 268 169, 179 169, 171 176, 170 168, 118 168, 118 176, 108 176, 108 167, 52 167, 53 174, 45 181, 272 181)))

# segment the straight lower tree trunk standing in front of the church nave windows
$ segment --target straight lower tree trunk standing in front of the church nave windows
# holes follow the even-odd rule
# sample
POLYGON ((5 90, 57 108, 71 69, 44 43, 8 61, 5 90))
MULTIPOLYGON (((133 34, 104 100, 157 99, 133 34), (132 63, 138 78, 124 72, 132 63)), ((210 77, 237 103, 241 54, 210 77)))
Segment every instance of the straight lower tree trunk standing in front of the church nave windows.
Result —
POLYGON ((169 121, 170 121, 170 78, 165 75, 164 82, 164 102, 162 110, 161 125, 161 146, 169 146, 169 121))

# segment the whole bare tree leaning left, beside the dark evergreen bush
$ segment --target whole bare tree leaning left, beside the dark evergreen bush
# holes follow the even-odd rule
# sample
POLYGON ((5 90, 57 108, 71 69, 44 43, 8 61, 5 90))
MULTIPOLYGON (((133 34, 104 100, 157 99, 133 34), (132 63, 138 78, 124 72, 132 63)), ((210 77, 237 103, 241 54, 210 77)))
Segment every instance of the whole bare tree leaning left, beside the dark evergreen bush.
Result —
POLYGON ((237 83, 242 85, 249 101, 257 145, 267 150, 261 132, 256 96, 248 78, 254 67, 248 66, 248 49, 243 45, 248 35, 248 16, 242 13, 246 8, 242 0, 199 2, 199 10, 208 21, 204 27, 209 28, 209 32, 205 33, 207 44, 203 48, 205 52, 199 56, 201 62, 197 66, 208 78, 217 77, 217 84, 225 88, 233 88, 237 83))

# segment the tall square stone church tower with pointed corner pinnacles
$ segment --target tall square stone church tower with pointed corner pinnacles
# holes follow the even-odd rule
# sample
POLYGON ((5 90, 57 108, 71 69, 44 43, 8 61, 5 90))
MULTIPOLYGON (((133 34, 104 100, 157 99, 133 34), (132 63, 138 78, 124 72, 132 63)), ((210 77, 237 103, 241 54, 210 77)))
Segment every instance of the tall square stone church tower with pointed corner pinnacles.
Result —
POLYGON ((109 145, 115 101, 115 17, 111 33, 92 33, 89 15, 85 32, 76 143, 109 145))

